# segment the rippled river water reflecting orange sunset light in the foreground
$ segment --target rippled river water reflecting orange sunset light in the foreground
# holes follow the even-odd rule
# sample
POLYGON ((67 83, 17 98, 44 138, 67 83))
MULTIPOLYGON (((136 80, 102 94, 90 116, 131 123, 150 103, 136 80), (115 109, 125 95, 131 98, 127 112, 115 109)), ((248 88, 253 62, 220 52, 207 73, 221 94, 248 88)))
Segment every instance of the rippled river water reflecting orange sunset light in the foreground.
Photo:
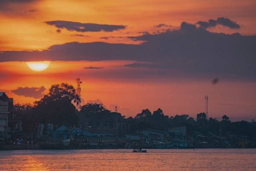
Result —
POLYGON ((0 170, 256 171, 256 149, 0 151, 0 170))

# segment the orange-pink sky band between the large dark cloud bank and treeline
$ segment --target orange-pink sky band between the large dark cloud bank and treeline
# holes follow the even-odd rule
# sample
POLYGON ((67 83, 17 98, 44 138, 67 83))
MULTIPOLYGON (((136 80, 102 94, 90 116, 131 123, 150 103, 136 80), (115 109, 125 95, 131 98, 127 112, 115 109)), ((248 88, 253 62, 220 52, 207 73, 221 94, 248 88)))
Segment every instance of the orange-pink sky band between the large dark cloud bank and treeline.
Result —
POLYGON ((254 116, 256 83, 220 82, 212 85, 210 79, 186 81, 165 78, 122 78, 111 75, 108 77, 102 74, 101 70, 83 69, 88 66, 99 66, 104 67, 106 73, 112 73, 111 70, 123 72, 127 69, 120 67, 120 64, 124 63, 130 62, 56 61, 51 62, 49 68, 43 72, 34 72, 26 66, 26 62, 2 62, 0 67, 10 75, 3 78, 1 89, 5 90, 9 97, 14 97, 16 103, 32 103, 37 99, 17 95, 10 90, 42 85, 48 89, 50 85, 61 82, 76 86, 75 78, 80 76, 83 103, 100 99, 109 109, 114 110, 113 105, 118 105, 120 112, 126 116, 134 116, 141 109, 148 108, 154 111, 160 107, 168 115, 186 113, 195 117, 196 113, 204 111, 206 93, 209 96, 209 113, 212 117, 220 118, 228 114, 234 119, 249 119, 254 116))

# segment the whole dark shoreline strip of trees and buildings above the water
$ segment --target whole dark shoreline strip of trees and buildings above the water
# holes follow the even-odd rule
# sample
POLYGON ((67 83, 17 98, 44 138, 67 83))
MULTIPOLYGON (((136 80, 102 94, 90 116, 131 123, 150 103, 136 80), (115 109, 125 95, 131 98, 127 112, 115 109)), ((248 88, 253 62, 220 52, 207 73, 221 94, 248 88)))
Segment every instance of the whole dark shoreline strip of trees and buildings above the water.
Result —
MULTIPOLYGON (((80 82, 80 81, 79 81, 80 82)), ((80 106, 79 89, 56 84, 34 104, 0 92, 0 149, 255 148, 256 122, 218 121, 207 113, 164 115, 143 109, 126 118, 102 104, 80 106)))

